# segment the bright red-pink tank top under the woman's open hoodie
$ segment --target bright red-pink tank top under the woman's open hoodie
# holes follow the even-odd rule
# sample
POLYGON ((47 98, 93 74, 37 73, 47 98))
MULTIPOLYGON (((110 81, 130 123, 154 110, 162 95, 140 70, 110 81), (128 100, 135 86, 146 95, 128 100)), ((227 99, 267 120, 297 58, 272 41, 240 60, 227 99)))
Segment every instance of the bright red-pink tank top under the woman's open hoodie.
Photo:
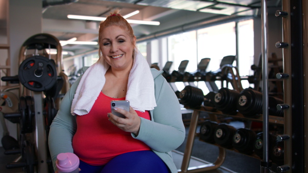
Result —
MULTIPOLYGON (((125 97, 111 98, 101 92, 89 114, 76 115, 77 131, 72 145, 74 153, 87 164, 104 165, 123 153, 150 150, 144 142, 132 138, 129 132, 122 131, 108 120, 111 100, 125 100, 125 97)), ((136 112, 150 120, 148 111, 136 112)))

